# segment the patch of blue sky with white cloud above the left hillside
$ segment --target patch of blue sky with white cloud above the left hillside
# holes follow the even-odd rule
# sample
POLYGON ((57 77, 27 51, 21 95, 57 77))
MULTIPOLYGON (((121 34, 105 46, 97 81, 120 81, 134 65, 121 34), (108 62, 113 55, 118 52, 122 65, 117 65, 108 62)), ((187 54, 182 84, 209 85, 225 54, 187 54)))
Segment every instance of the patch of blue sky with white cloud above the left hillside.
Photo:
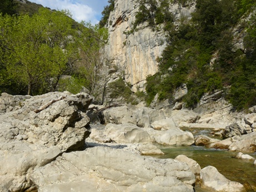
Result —
POLYGON ((68 9, 77 22, 86 21, 96 24, 108 0, 29 0, 51 9, 68 9))

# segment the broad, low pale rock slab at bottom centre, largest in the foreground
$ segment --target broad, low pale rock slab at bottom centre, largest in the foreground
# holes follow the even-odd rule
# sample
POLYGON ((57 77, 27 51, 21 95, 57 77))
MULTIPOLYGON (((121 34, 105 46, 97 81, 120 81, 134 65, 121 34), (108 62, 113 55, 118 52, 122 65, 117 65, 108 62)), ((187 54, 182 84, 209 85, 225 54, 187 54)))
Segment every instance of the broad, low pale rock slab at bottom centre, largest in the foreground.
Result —
POLYGON ((187 164, 101 146, 64 153, 34 171, 38 191, 193 191, 187 164))

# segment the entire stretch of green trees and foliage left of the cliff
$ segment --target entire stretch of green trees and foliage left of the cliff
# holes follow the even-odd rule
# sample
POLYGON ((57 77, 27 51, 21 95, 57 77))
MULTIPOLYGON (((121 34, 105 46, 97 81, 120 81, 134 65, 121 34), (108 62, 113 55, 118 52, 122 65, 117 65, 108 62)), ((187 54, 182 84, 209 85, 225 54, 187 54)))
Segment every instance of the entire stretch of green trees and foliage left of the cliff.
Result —
POLYGON ((93 93, 107 37, 104 28, 74 25, 68 11, 40 8, 32 16, 0 15, 1 92, 47 93, 56 90, 62 75, 73 75, 81 89, 93 93))

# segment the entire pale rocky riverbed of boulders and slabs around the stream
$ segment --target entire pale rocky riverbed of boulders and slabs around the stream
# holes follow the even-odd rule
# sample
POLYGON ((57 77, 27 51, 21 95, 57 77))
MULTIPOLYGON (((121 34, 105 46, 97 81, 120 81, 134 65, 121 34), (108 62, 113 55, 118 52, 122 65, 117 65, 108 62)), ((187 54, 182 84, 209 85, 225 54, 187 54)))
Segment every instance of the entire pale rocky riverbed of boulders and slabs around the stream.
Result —
POLYGON ((250 114, 232 113, 219 99, 194 111, 107 109, 92 100, 85 93, 3 93, 0 191, 193 191, 196 184, 214 191, 248 189, 184 155, 148 155, 163 155, 159 146, 203 145, 241 151, 238 158, 249 158, 246 153, 256 151, 254 108, 250 114), (182 130, 202 128, 227 139, 182 130))

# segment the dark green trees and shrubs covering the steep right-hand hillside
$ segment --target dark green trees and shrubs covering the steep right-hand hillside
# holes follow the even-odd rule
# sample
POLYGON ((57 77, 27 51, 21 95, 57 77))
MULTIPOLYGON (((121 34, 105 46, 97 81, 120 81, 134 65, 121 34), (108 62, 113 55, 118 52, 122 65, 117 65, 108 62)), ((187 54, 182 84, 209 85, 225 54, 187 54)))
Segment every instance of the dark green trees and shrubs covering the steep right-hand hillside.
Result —
POLYGON ((244 38, 245 53, 234 48, 232 32, 241 17, 251 12, 253 6, 255 8, 254 1, 197 0, 192 19, 184 18, 178 29, 173 19, 156 22, 159 13, 165 15, 163 7, 168 7, 168 1, 155 4, 154 1, 140 0, 139 3, 134 27, 148 22, 149 26, 156 28, 157 24, 163 23, 168 36, 168 45, 158 59, 159 72, 147 77, 148 104, 157 93, 160 100, 172 99, 174 90, 183 83, 188 88, 183 101, 190 108, 197 105, 204 93, 215 90, 226 90, 227 99, 238 110, 256 104, 255 17, 247 23, 242 22, 238 29, 245 31, 246 26, 248 29, 244 38), (150 3, 155 6, 150 6, 150 3), (167 4, 163 6, 164 3, 167 4))

